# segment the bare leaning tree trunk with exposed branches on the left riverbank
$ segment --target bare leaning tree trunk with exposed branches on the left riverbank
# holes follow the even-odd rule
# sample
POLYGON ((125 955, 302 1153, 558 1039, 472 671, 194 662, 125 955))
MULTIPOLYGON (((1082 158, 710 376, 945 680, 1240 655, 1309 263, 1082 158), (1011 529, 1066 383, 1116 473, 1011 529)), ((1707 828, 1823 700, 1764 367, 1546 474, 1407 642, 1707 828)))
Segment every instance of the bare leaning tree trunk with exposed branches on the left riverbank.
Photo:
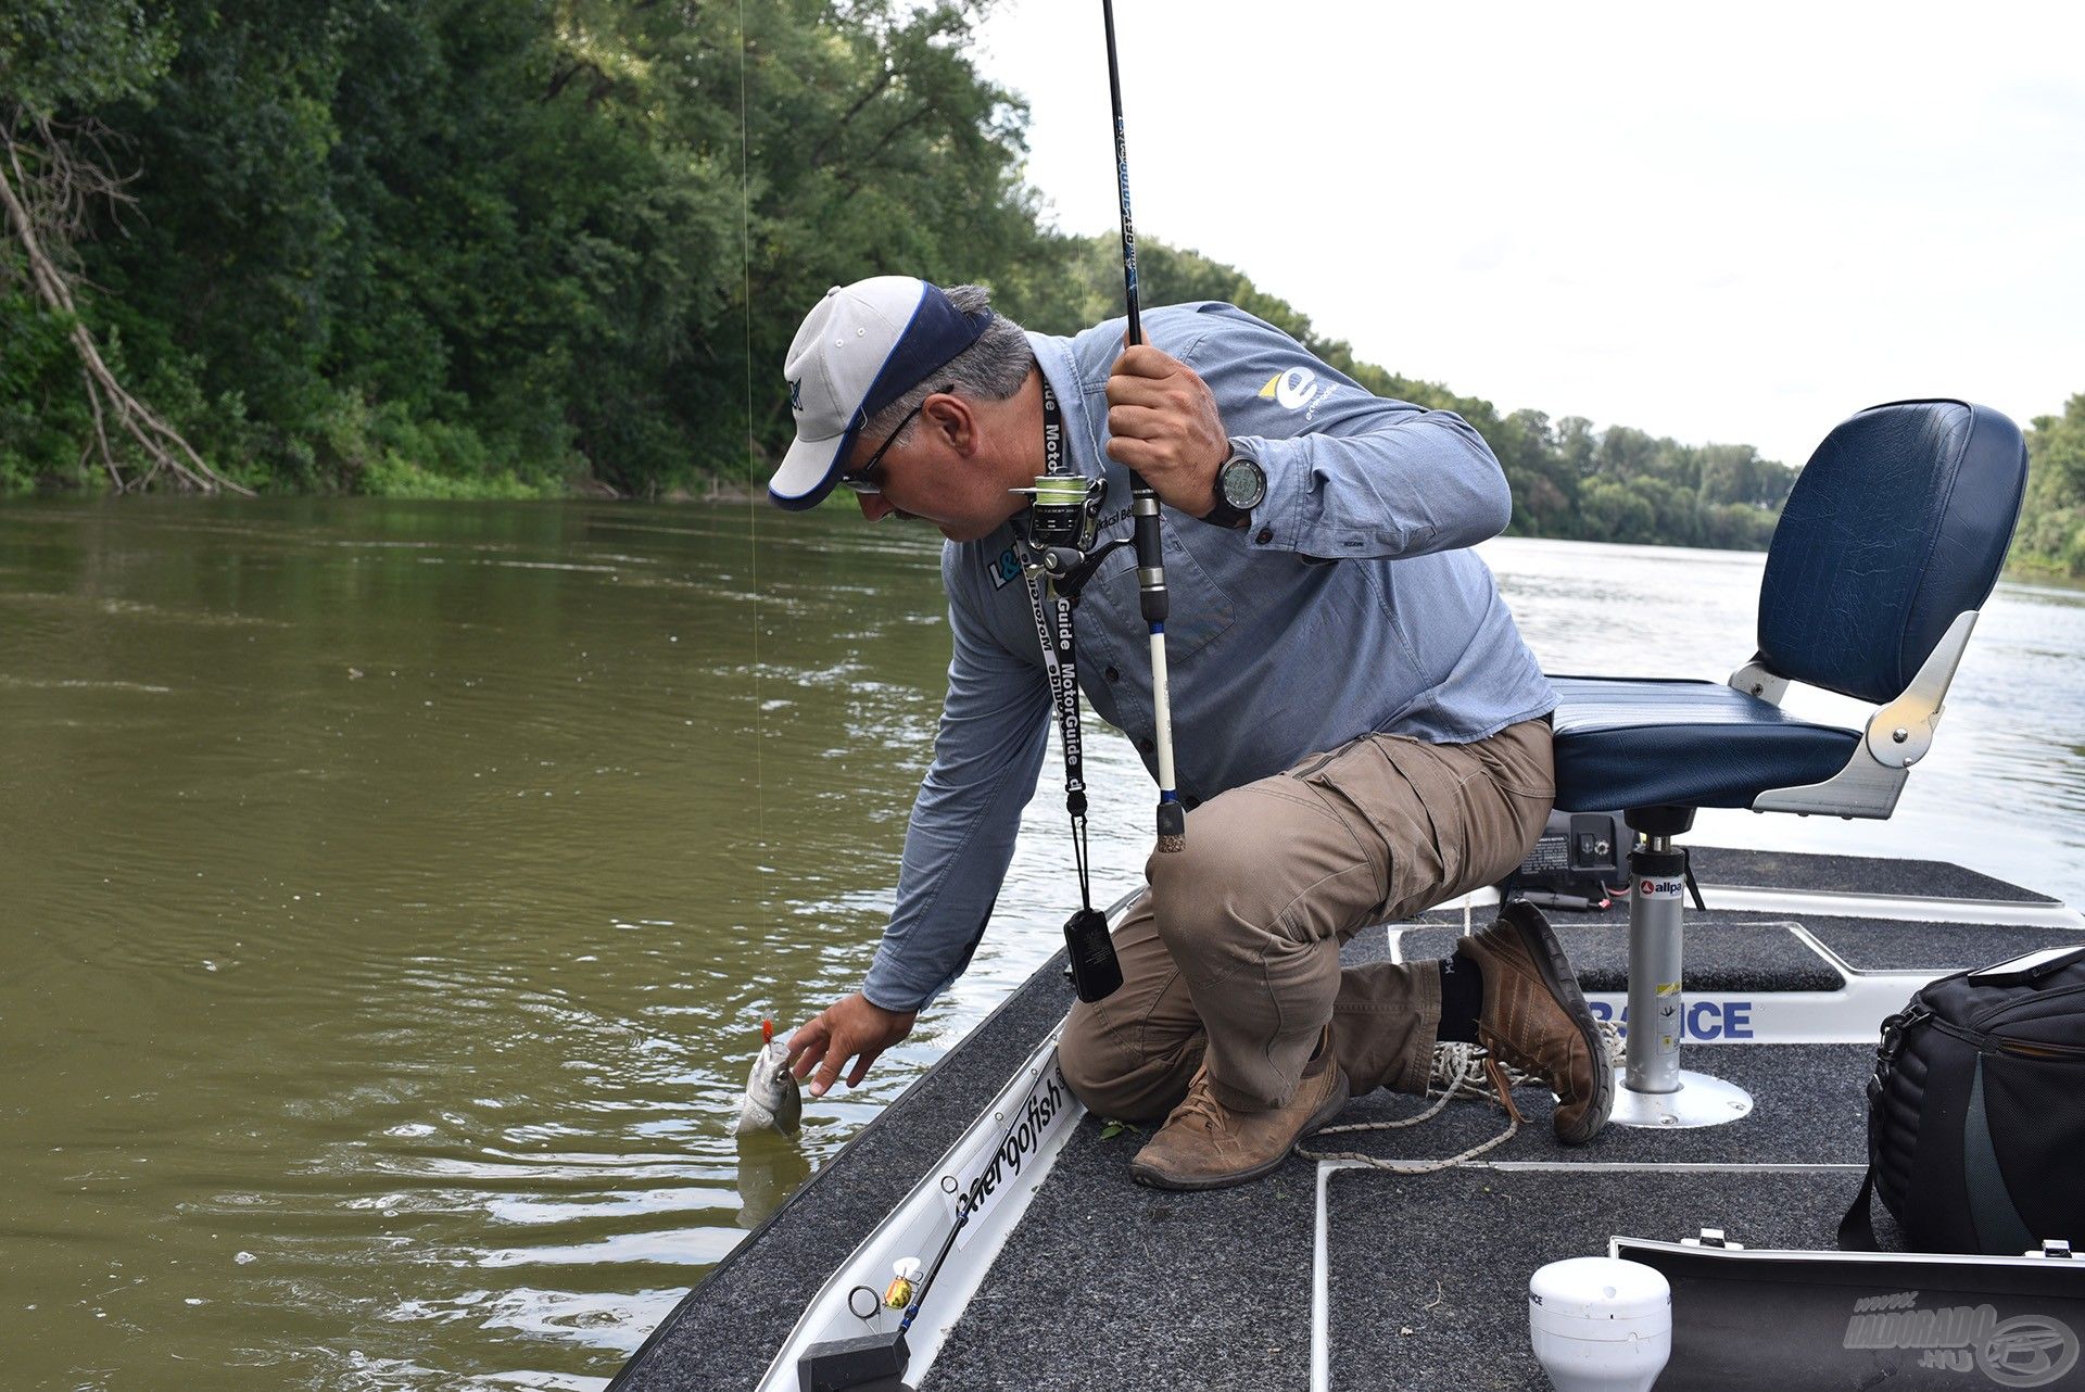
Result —
POLYGON ((44 248, 44 231, 56 233, 63 244, 69 231, 77 231, 83 225, 81 213, 88 202, 96 198, 123 202, 121 181, 92 160, 77 156, 65 138, 50 127, 48 119, 21 108, 0 110, 0 144, 6 146, 6 169, 0 169, 0 208, 6 210, 8 229, 15 233, 15 242, 29 263, 29 283, 46 308, 73 321, 69 338, 73 340, 73 350, 79 354, 79 375, 88 390, 88 406, 94 411, 94 436, 81 448, 81 463, 100 456, 119 494, 144 490, 165 471, 181 490, 215 494, 219 488, 229 488, 236 494, 252 496, 250 488, 234 483, 202 463, 202 456, 196 454, 181 431, 167 425, 150 406, 123 390, 108 363, 102 361, 102 352, 94 344, 88 325, 79 321, 71 277, 44 248), (15 138, 17 123, 23 117, 27 117, 35 131, 31 156, 42 156, 44 165, 38 179, 31 179, 23 169, 23 146, 15 138), (8 179, 8 171, 15 175, 13 181, 8 179), (117 456, 108 438, 111 419, 119 436, 127 436, 142 452, 148 465, 144 473, 136 469, 125 473, 125 461, 117 456))

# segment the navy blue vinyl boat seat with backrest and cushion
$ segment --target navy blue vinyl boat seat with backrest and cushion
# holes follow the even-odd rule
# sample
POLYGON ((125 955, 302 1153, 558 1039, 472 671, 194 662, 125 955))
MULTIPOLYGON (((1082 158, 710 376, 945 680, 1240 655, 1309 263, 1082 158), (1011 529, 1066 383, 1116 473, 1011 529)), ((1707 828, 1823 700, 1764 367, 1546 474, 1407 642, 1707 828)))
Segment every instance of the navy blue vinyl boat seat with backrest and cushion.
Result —
POLYGON ((1987 406, 1891 402, 1841 423, 1774 527, 1751 663, 1726 683, 1551 679, 1555 804, 1889 817, 2025 483, 2020 431, 1987 406), (1779 706, 1789 681, 1883 709, 1866 731, 1801 721, 1779 706))

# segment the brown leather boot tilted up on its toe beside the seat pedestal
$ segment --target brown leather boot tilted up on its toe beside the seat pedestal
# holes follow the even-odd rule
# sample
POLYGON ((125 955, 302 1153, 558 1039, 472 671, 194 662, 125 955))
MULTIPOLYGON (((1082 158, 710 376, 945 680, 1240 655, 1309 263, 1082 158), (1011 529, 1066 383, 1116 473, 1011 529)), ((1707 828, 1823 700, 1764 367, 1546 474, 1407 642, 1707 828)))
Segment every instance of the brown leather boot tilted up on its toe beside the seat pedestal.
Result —
POLYGON ((1535 904, 1514 900, 1499 921, 1464 938, 1457 952, 1485 971, 1476 1038, 1499 1063, 1539 1077, 1557 1094, 1557 1140, 1583 1146, 1614 1111, 1614 1065, 1578 977, 1535 904))

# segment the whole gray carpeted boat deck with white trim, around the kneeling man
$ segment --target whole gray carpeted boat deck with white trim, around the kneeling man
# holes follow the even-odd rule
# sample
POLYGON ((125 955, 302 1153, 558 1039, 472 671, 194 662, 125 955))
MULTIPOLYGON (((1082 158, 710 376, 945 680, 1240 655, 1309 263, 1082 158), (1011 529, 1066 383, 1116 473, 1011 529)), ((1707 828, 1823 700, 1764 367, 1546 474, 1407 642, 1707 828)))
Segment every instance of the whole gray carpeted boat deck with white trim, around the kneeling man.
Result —
MULTIPOLYGON (((1687 921, 1689 1069, 1747 1088, 1753 1111, 1703 1129, 1549 1136, 1549 1098, 1516 1090, 1528 1125, 1480 1161, 1389 1173, 1291 1159, 1259 1184, 1170 1194, 1130 1182, 1136 1132, 1082 1117, 1005 1240, 922 1392, 1072 1388, 1547 1388, 1526 1338, 1528 1275, 1599 1254, 1612 1236, 1720 1227, 1747 1246, 1831 1248, 1866 1157, 1864 1086, 1883 1015, 1918 979, 2077 940, 2062 904, 1914 861, 1695 852, 1708 913, 1687 921), (1806 896, 1833 894, 1818 913, 1806 896), (1924 900, 1920 921, 1908 896, 1924 900), (1864 902, 1872 900, 1872 902, 1864 902), (1945 900, 1945 902, 1941 902, 1945 900), (1743 906, 1739 906, 1743 904, 1743 906), (1776 1042, 1806 1038, 1810 1042, 1776 1042)), ((1549 913, 1597 1006, 1618 1009, 1626 911, 1549 913), (1605 996, 1605 1000, 1603 1000, 1605 996)), ((1478 913, 1478 923, 1489 913, 1478 913)), ((1349 959, 1441 956, 1462 913, 1357 936, 1349 959)), ((1042 969, 919 1079, 667 1319, 613 1388, 761 1386, 824 1282, 967 1127, 1070 1004, 1042 969)), ((1343 1121, 1422 1111, 1357 1098, 1343 1121)), ((1457 1100, 1397 1132, 1326 1150, 1437 1159, 1503 1127, 1457 1100)), ((1891 1244, 1887 1213, 1879 1234, 1891 1244)), ((794 1373, 778 1386, 794 1386, 794 1373)))

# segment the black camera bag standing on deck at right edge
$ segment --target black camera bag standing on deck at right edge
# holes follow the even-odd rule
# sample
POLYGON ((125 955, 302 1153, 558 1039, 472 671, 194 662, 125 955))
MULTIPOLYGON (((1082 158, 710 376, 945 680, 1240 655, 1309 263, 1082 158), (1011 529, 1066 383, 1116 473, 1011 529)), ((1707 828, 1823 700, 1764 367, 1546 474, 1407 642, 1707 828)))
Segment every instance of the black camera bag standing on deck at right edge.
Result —
POLYGON ((2085 948, 1939 977, 1883 1021, 1841 1248, 1874 1250, 1870 1190, 1912 1250, 2085 1246, 2085 948))

